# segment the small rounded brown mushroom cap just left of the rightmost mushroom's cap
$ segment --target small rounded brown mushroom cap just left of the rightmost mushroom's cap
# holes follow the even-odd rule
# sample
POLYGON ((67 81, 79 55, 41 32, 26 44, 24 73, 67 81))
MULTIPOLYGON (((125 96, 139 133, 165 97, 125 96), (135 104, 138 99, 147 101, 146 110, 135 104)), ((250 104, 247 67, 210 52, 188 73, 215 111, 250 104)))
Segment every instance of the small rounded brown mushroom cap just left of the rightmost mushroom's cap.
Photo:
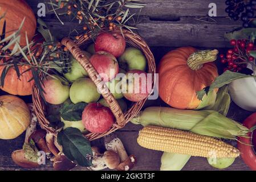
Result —
POLYGON ((115 151, 105 151, 103 158, 109 169, 115 169, 120 164, 119 155, 115 151))

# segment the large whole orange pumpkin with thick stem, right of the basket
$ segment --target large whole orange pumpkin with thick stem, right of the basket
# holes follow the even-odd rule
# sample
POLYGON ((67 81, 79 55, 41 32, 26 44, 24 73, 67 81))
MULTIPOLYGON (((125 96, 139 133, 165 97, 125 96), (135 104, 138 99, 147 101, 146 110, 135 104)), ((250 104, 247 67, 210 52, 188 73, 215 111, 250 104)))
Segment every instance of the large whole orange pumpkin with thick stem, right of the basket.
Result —
POLYGON ((193 47, 168 52, 158 68, 161 99, 178 109, 196 109, 201 104, 196 92, 218 76, 216 65, 210 63, 217 59, 217 54, 217 50, 197 51, 193 47))

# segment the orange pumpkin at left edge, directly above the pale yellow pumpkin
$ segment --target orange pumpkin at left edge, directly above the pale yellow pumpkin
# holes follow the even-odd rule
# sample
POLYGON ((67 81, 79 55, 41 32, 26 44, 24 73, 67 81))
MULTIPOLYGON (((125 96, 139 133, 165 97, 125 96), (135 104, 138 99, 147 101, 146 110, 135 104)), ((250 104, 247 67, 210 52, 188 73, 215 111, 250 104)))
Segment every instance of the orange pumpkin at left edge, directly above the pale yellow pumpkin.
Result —
MULTIPOLYGON (((2 63, 3 62, 0 61, 0 64, 2 63)), ((7 72, 7 75, 5 76, 5 82, 3 87, 1 87, 1 89, 13 95, 19 95, 19 96, 31 95, 32 86, 34 85, 34 80, 31 80, 31 78, 33 77, 32 71, 31 70, 27 71, 27 69, 29 69, 29 66, 27 65, 22 65, 18 67, 19 67, 19 72, 22 73, 22 75, 18 78, 17 72, 15 71, 14 67, 11 67, 7 72)), ((0 65, 0 76, 2 75, 4 68, 5 66, 0 65)))

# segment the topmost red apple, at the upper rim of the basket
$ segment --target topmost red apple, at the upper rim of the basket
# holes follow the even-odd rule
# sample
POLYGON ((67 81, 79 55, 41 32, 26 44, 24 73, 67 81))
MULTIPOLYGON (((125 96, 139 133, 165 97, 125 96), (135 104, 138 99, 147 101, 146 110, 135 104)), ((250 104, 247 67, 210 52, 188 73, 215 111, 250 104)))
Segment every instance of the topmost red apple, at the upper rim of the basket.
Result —
POLYGON ((125 40, 120 34, 101 33, 95 41, 95 51, 106 51, 119 57, 124 53, 125 40))

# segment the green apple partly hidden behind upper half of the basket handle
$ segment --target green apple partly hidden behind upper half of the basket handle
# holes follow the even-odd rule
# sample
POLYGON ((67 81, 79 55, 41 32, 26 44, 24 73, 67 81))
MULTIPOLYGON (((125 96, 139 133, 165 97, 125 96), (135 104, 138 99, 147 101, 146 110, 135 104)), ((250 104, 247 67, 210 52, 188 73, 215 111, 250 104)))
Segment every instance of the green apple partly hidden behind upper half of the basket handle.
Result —
MULTIPOLYGON (((89 52, 82 52, 87 56, 88 59, 90 59, 91 54, 89 52)), ((77 60, 75 60, 75 58, 72 55, 70 56, 70 63, 71 67, 68 69, 68 72, 64 74, 64 77, 67 78, 68 81, 74 82, 78 78, 88 76, 86 70, 82 67, 82 65, 80 65, 80 63, 77 60)))

